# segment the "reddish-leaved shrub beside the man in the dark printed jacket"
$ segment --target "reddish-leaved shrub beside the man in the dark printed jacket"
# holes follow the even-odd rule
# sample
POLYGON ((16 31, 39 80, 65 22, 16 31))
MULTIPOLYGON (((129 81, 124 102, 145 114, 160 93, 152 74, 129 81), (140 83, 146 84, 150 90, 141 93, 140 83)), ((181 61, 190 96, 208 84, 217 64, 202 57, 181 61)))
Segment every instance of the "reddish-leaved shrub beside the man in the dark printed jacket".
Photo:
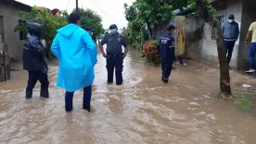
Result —
POLYGON ((160 54, 157 49, 157 40, 148 40, 143 45, 143 53, 146 55, 147 60, 155 65, 160 65, 160 54))

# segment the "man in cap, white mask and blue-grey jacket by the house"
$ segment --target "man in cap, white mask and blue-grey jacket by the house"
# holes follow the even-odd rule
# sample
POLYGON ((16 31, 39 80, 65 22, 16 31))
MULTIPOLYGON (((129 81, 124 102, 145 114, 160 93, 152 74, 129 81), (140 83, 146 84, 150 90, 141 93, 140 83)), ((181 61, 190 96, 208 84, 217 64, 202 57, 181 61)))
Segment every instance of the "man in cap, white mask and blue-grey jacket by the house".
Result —
MULTIPOLYGON (((235 21, 234 15, 228 16, 228 21, 224 22, 222 29, 224 32, 224 47, 225 53, 227 54, 227 64, 229 65, 235 43, 237 42, 240 33, 239 26, 238 23, 235 21)), ((231 69, 230 66, 229 69, 231 69)))

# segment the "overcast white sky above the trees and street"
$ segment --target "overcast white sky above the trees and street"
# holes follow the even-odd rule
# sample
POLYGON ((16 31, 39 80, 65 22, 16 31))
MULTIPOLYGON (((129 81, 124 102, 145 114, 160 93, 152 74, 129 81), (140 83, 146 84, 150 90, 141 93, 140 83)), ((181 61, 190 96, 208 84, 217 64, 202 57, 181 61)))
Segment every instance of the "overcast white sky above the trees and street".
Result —
MULTIPOLYGON (((29 6, 44 6, 49 9, 58 8, 59 10, 68 10, 70 13, 75 8, 76 0, 17 0, 29 6)), ((123 4, 129 6, 135 0, 78 0, 79 7, 90 8, 102 18, 104 29, 108 29, 110 24, 117 24, 121 29, 127 26, 127 21, 124 17, 123 4)))

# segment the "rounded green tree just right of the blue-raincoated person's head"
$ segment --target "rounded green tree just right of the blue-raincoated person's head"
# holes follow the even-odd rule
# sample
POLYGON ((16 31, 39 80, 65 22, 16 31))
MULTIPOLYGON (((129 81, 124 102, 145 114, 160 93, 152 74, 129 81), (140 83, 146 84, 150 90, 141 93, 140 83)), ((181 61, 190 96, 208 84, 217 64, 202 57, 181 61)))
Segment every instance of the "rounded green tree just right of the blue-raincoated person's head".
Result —
MULTIPOLYGON (((74 9, 73 12, 76 10, 74 9)), ((105 30, 103 29, 102 26, 102 19, 101 17, 96 14, 95 11, 91 9, 83 9, 79 8, 78 13, 81 17, 81 27, 84 29, 85 27, 92 27, 94 31, 95 36, 99 36, 100 34, 104 33, 105 30)))

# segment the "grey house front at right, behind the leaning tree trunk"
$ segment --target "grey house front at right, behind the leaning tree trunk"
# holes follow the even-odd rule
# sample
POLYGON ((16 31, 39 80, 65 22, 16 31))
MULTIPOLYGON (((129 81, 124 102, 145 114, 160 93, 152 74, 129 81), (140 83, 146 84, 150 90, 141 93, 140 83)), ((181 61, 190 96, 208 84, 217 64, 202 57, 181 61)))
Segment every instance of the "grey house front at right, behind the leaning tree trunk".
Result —
MULTIPOLYGON (((250 24, 256 21, 256 1, 250 0, 219 0, 214 18, 223 24, 230 14, 235 16, 239 25, 240 35, 235 44, 230 66, 237 69, 249 68, 249 45, 245 45, 246 34, 250 24)), ((217 4, 217 3, 216 3, 217 4)), ((214 32, 211 26, 193 15, 186 17, 186 52, 192 58, 211 64, 218 64, 218 52, 214 32), (194 32, 198 33, 194 33, 194 32), (201 33, 200 33, 201 31, 201 33), (198 40, 196 37, 200 35, 198 40), (191 41, 193 40, 194 41, 191 41)))

